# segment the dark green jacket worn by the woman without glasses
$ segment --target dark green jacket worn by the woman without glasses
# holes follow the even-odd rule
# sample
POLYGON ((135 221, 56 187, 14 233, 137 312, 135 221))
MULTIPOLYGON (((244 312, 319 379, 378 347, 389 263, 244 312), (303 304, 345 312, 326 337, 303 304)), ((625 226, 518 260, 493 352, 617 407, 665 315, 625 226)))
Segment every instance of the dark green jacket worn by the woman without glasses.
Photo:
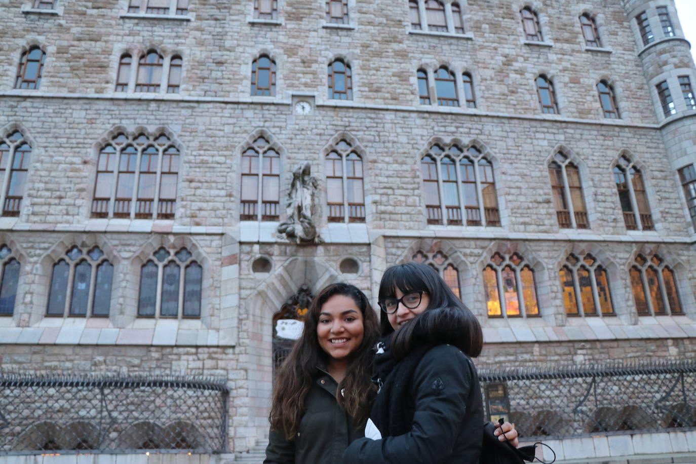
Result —
MULTIPOLYGON (((338 384, 325 371, 317 369, 315 383, 305 399, 299 433, 287 440, 271 429, 264 464, 338 464, 349 443, 362 438, 364 427, 354 426, 336 402, 338 384)), ((294 394, 294 392, 287 392, 294 394)))

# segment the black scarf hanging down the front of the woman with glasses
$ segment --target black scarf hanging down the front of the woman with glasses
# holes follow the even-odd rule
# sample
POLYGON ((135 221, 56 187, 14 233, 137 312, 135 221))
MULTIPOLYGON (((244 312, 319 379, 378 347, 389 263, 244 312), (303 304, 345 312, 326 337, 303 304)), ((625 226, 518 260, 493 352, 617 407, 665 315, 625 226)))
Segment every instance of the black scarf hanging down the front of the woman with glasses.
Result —
POLYGON ((389 339, 380 342, 374 357, 375 375, 379 392, 372 403, 370 418, 383 437, 402 435, 411 430, 416 405, 410 393, 413 373, 432 344, 417 346, 405 358, 396 360, 388 348, 389 339))

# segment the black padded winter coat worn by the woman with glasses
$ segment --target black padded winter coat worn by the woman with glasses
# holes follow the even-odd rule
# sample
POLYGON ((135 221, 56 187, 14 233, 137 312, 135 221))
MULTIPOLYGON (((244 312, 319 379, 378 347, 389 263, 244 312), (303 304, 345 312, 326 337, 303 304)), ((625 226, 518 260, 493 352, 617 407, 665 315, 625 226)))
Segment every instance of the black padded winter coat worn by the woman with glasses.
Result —
MULTIPOLYGON (((400 362, 408 362, 413 354, 400 362)), ((389 377, 384 383, 388 381, 389 377)), ((476 369, 468 356, 451 345, 434 346, 422 355, 410 383, 403 388, 408 389, 404 395, 408 400, 389 408, 404 409, 400 412, 404 424, 376 424, 380 430, 397 426, 408 431, 388 436, 381 430, 382 440, 356 440, 346 450, 343 462, 478 463, 483 405, 476 369)))

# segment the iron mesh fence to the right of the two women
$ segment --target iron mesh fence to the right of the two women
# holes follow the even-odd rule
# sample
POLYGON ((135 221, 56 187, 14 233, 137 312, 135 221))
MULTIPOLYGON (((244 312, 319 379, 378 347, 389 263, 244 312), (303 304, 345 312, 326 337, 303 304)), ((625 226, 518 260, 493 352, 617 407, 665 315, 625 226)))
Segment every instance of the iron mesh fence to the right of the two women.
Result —
POLYGON ((696 428, 696 360, 481 371, 489 419, 523 438, 696 428))

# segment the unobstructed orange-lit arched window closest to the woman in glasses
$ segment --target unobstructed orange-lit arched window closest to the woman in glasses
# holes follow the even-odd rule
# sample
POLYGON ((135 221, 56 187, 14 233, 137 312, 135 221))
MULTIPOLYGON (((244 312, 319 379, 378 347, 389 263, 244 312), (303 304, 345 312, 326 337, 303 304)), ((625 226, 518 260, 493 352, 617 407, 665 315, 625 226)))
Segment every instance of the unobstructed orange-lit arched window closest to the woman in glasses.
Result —
POLYGON ((534 269, 519 253, 493 253, 484 267, 483 282, 489 317, 540 315, 534 269))

